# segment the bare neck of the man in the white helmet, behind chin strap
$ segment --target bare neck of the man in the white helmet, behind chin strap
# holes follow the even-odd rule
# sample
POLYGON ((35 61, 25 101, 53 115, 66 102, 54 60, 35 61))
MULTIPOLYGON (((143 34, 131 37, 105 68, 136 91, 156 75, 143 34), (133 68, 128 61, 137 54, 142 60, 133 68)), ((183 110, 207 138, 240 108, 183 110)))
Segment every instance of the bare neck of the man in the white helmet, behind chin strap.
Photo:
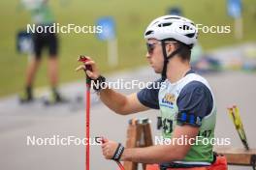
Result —
POLYGON ((167 79, 171 83, 175 83, 185 76, 186 72, 191 70, 189 62, 181 61, 178 57, 174 57, 167 66, 167 79))

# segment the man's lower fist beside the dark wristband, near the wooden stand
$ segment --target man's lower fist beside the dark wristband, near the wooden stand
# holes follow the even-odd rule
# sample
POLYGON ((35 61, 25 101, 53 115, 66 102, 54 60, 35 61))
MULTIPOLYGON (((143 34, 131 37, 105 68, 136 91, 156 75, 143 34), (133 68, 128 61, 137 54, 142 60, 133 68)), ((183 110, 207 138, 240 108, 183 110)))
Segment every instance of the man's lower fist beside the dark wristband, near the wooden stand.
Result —
POLYGON ((116 149, 118 147, 118 143, 114 141, 109 141, 108 139, 103 139, 102 144, 102 154, 107 159, 112 159, 112 156, 114 155, 116 149))

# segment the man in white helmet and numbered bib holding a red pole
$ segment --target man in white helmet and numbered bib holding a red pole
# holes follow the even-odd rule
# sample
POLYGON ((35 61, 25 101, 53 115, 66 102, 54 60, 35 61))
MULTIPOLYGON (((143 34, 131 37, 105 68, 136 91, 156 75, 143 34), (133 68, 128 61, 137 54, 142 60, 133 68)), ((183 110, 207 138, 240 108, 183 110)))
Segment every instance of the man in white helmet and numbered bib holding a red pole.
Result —
MULTIPOLYGON (((198 39, 195 24, 185 17, 164 15, 147 26, 144 39, 148 63, 162 75, 154 83, 161 83, 161 86, 153 88, 157 86, 151 84, 129 96, 111 88, 100 89, 98 86, 94 89, 100 99, 120 115, 159 109, 163 137, 185 138, 190 142, 124 148, 117 142, 106 140, 102 145, 103 155, 107 159, 147 163, 147 169, 226 170, 225 157, 213 154, 212 143, 197 141, 200 137, 212 141, 214 137, 216 102, 208 81, 190 67, 191 49, 198 39)), ((91 66, 92 71, 86 71, 86 74, 93 81, 100 84, 106 81, 91 58, 85 65, 91 66)), ((82 69, 85 70, 84 65, 78 68, 82 69)))

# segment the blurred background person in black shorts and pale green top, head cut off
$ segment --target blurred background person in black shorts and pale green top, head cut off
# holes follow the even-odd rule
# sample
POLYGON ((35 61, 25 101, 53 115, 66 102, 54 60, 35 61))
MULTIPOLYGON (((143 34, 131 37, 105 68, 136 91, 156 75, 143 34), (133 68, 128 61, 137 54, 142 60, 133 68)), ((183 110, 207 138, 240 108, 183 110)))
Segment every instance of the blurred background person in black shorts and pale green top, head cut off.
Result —
POLYGON ((56 33, 50 33, 45 26, 51 26, 54 22, 54 16, 48 6, 48 0, 22 0, 22 5, 31 12, 32 23, 38 26, 43 26, 43 33, 32 33, 32 57, 29 60, 25 89, 22 96, 19 97, 21 102, 33 101, 33 83, 36 73, 41 65, 42 52, 45 47, 48 48, 48 78, 51 86, 50 102, 61 102, 64 99, 60 96, 58 85, 58 39, 56 33))

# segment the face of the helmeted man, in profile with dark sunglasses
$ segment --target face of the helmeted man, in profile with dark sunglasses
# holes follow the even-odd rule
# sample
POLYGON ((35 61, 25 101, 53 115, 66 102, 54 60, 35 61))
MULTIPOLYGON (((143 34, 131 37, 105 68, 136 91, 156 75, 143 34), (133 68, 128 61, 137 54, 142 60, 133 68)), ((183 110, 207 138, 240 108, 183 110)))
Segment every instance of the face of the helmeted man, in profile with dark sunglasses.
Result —
POLYGON ((155 39, 149 39, 147 43, 146 58, 153 70, 156 73, 161 73, 164 65, 162 45, 155 39))

